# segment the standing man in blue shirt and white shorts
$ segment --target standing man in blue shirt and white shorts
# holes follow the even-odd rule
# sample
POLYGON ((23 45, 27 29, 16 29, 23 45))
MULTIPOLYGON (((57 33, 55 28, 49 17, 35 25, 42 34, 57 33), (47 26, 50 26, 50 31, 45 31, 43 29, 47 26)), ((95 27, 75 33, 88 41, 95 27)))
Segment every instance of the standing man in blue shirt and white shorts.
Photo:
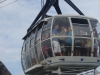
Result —
MULTIPOLYGON (((52 30, 52 35, 53 36, 57 36, 58 34, 58 30, 59 29, 59 25, 55 25, 54 29, 52 30)), ((60 44, 59 44, 59 39, 58 38, 53 38, 53 46, 54 46, 54 53, 55 55, 57 55, 59 53, 60 56, 62 56, 61 53, 61 48, 60 48, 60 44)))

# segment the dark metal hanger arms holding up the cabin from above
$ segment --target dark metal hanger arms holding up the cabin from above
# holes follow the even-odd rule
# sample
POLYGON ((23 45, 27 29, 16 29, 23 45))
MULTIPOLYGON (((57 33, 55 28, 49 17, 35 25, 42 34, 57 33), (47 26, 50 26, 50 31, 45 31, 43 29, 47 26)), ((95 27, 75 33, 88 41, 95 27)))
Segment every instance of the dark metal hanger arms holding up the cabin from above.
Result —
MULTIPOLYGON (((84 15, 76 6, 75 4, 71 1, 71 0, 64 0, 66 3, 68 3, 77 13, 79 13, 80 15, 84 15)), ((32 25, 28 28, 27 32, 29 32, 33 27, 34 24, 36 24, 37 22, 39 22, 41 19, 45 18, 47 15, 46 13, 49 11, 49 9, 54 6, 56 12, 58 14, 62 14, 60 7, 59 7, 59 0, 46 0, 45 5, 43 6, 43 8, 41 9, 41 11, 39 12, 39 14, 37 15, 37 17, 35 18, 35 20, 33 21, 32 25)))

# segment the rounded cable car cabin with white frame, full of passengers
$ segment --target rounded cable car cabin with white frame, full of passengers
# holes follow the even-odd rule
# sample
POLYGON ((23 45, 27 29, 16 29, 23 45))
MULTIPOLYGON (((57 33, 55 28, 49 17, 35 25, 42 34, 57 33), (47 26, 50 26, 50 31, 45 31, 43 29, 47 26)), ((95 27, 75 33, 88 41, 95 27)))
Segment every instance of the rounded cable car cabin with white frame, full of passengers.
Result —
POLYGON ((58 15, 41 20, 23 38, 25 74, 80 73, 100 65, 100 24, 85 16, 58 15))

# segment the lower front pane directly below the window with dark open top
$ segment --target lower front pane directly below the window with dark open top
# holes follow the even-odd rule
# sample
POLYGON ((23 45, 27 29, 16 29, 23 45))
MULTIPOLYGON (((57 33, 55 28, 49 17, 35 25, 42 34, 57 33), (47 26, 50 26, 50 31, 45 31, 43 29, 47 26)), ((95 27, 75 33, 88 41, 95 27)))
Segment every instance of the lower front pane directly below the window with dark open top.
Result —
POLYGON ((74 56, 91 56, 92 40, 88 38, 74 39, 74 56))

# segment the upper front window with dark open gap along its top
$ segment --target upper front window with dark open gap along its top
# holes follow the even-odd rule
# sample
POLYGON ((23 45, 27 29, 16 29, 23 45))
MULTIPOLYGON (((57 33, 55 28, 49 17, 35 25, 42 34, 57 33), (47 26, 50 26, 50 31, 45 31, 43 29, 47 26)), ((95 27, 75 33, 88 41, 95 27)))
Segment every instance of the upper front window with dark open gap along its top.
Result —
POLYGON ((74 36, 90 37, 90 28, 86 19, 71 18, 74 36))

